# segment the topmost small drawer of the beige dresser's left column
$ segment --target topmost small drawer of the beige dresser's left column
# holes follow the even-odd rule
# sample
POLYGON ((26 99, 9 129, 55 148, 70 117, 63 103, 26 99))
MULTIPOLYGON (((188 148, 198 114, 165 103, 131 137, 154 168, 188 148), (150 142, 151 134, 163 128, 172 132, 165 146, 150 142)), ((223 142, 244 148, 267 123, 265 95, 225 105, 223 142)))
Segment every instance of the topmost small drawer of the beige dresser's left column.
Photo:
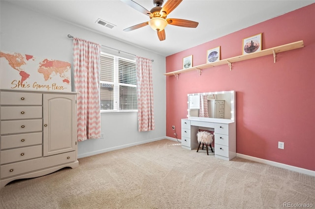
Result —
POLYGON ((41 105, 42 94, 1 91, 1 105, 41 105))

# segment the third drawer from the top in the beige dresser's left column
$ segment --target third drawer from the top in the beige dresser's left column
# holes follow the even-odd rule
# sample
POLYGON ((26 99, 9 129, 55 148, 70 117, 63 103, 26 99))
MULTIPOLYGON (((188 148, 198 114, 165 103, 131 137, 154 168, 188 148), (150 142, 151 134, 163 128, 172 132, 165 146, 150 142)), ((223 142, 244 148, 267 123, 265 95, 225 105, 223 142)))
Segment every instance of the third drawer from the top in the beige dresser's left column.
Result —
POLYGON ((42 131, 42 119, 1 121, 1 134, 42 131))

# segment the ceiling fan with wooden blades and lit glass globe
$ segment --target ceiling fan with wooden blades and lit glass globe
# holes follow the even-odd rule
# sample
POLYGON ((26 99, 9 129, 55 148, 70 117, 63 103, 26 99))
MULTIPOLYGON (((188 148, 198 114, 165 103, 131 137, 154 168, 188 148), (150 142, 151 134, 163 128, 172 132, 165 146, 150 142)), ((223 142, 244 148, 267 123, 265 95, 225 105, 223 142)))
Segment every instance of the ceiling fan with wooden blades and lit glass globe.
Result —
POLYGON ((131 30, 149 25, 151 26, 152 29, 157 31, 158 39, 160 41, 163 41, 165 40, 164 28, 167 25, 181 26, 181 27, 197 27, 198 26, 197 22, 190 21, 190 20, 174 19, 174 18, 166 19, 167 15, 169 15, 183 0, 167 0, 163 7, 161 7, 161 5, 163 4, 163 0, 153 0, 153 4, 155 5, 155 7, 153 7, 150 11, 133 0, 121 0, 121 1, 125 2, 127 5, 131 6, 137 11, 150 17, 150 20, 148 22, 144 22, 144 23, 137 24, 135 26, 127 27, 126 29, 124 29, 124 31, 131 31, 131 30))

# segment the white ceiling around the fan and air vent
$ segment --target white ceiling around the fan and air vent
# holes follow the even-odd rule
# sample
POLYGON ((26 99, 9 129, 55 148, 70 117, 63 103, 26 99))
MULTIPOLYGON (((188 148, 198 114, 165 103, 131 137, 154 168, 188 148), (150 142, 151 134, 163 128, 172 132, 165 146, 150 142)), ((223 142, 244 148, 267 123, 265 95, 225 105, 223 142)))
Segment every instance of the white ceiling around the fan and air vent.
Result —
MULTIPOLYGON (((152 0, 134 1, 149 11, 154 7, 152 0)), ((164 41, 158 40, 157 33, 150 26, 123 31, 129 26, 147 22, 149 17, 121 0, 10 2, 167 56, 312 4, 315 0, 183 0, 167 18, 192 20, 199 25, 196 28, 168 25, 164 41), (97 19, 116 26, 112 29, 101 26, 95 23, 97 19)), ((80 34, 71 35, 80 37, 80 34)))

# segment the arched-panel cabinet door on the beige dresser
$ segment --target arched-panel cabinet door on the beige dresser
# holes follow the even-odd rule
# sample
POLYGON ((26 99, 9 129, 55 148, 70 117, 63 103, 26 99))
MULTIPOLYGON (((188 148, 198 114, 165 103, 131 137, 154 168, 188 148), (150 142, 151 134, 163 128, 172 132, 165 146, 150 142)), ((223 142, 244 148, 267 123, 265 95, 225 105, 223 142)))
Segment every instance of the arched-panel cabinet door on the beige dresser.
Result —
POLYGON ((76 96, 43 94, 43 156, 76 150, 76 96))

